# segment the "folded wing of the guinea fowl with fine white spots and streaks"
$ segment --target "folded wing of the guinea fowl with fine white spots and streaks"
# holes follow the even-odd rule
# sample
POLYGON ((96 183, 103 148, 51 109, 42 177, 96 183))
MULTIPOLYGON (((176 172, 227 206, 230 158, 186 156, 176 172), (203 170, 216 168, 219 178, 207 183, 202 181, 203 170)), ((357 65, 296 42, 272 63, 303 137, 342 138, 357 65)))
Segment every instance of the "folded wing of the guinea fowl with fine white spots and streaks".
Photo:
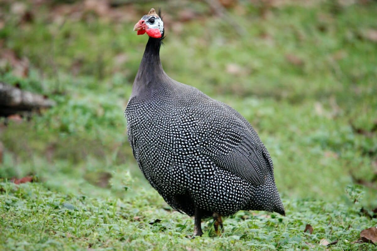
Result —
MULTIPOLYGON (((201 152, 220 168, 253 185, 262 185, 273 164, 267 149, 250 123, 237 111, 221 102, 213 104, 212 113, 200 113, 197 123, 202 141, 201 152)), ((207 111, 207 109, 205 109, 207 111)), ((195 130, 195 129, 194 129, 195 130)), ((194 134, 198 132, 193 132, 194 134)))

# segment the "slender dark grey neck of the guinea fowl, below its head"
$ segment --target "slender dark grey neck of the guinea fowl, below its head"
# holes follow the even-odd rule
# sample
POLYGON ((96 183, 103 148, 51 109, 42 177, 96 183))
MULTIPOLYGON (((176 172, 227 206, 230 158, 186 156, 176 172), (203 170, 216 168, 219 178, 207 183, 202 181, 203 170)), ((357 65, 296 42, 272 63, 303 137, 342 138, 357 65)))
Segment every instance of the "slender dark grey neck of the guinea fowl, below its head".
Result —
POLYGON ((151 93, 159 82, 168 77, 160 61, 161 38, 149 37, 143 59, 132 87, 132 96, 151 93))

